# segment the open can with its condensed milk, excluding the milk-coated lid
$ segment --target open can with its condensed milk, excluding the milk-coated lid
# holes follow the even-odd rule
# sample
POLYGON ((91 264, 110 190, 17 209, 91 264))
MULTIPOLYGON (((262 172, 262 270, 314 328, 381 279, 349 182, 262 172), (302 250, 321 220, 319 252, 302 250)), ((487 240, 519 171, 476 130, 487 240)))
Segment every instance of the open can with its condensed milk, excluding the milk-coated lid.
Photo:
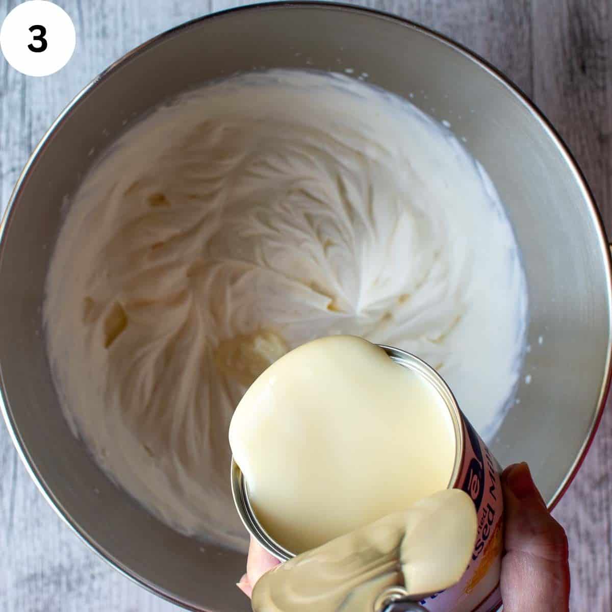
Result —
MULTIPOLYGON (((435 491, 465 491, 477 515, 469 565, 454 586, 418 605, 487 612, 499 602, 499 466, 446 383, 411 354, 346 336, 300 346, 247 391, 230 444, 239 515, 281 561, 350 538, 435 491)), ((308 553, 313 562, 316 553, 308 553)), ((383 599, 387 591, 412 599, 398 576, 383 599)))

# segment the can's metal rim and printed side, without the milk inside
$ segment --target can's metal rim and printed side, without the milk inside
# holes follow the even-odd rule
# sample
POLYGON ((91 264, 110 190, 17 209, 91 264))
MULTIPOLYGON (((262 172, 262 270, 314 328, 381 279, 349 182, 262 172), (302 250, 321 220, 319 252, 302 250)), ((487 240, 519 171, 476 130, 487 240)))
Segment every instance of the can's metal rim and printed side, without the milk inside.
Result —
MULTIPOLYGON (((421 375, 438 392, 449 410, 455 430, 455 463, 447 488, 467 493, 476 507, 478 531, 469 565, 452 587, 419 602, 401 602, 401 586, 381 593, 379 610, 426 610, 428 612, 493 612, 501 603, 499 575, 503 551, 503 498, 498 462, 461 412, 457 400, 441 376, 424 361, 401 349, 379 345, 395 363, 421 375)), ((235 461, 231 466, 234 503, 242 523, 259 544, 279 561, 295 555, 276 542, 256 518, 248 488, 235 461)))

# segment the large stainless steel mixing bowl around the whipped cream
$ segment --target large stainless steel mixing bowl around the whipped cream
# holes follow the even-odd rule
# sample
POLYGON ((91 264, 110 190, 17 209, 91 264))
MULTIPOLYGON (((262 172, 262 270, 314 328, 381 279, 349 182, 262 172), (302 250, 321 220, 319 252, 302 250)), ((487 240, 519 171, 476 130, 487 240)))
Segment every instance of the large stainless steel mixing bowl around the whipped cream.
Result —
POLYGON ((248 609, 234 586, 244 556, 161 524, 72 436, 41 333, 43 282, 62 203, 94 162, 92 148, 185 89, 263 67, 367 73, 370 83, 413 94, 417 106, 451 121, 487 168, 523 253, 532 346, 520 403, 491 450, 502 464, 529 461, 551 504, 588 448, 610 375, 610 256, 592 196, 547 121, 490 66, 398 18, 294 2, 221 13, 142 45, 73 100, 13 193, 0 247, 2 403, 24 463, 65 521, 126 575, 194 610, 248 609))

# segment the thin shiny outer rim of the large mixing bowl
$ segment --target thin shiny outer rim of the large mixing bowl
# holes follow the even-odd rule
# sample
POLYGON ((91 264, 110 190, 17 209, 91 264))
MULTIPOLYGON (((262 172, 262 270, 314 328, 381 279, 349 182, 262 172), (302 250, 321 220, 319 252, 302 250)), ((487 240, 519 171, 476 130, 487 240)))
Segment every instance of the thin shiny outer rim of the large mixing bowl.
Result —
MULTIPOLYGON (((267 1, 260 2, 259 4, 250 4, 247 6, 238 6, 230 9, 209 13, 207 15, 202 15, 201 17, 196 17, 192 20, 185 21, 185 23, 179 24, 174 28, 170 28, 160 34, 155 35, 151 39, 146 40, 141 43, 137 47, 133 48, 130 51, 127 51, 121 58, 117 59, 113 63, 111 63, 106 69, 102 70, 99 75, 95 76, 83 89, 81 89, 78 94, 73 97, 72 100, 65 106, 65 108, 58 115, 58 118, 53 121, 47 132, 42 136, 37 146, 35 146, 31 155, 28 158, 28 161, 23 167, 20 175, 18 176, 17 182, 15 183, 15 187, 13 187, 12 193, 9 197, 9 201, 7 202, 6 209, 2 218, 0 219, 0 264, 2 263, 2 259, 4 258, 4 234, 7 228, 10 225, 10 222, 13 217, 13 207, 15 207, 15 203, 18 201, 21 191, 28 180, 28 177, 34 171, 36 161, 40 154, 45 151, 48 143, 53 139, 53 135, 56 130, 59 129, 62 122, 70 117, 70 114, 75 110, 75 108, 79 105, 81 100, 84 100, 88 95, 92 94, 96 86, 105 81, 114 72, 116 72, 122 65, 127 62, 132 61, 135 58, 138 58, 141 54, 150 50, 151 48, 159 45, 165 40, 168 40, 176 35, 181 34, 188 29, 197 28, 201 26, 201 24, 206 23, 207 21, 213 21, 220 18, 227 17, 233 13, 237 12, 255 12, 255 11, 265 11, 265 10, 293 10, 293 9, 315 9, 321 12, 336 10, 339 12, 352 12, 352 13, 360 13, 362 15, 366 15, 367 17, 373 19, 381 19, 388 20, 397 23, 400 26, 411 29, 413 31, 420 32, 421 34, 425 34, 428 37, 437 40, 439 43, 446 45, 447 47, 452 48, 452 50, 457 51, 466 59, 471 60, 476 65, 478 65, 481 69, 485 70, 494 80, 498 81, 502 86, 505 86, 509 91, 515 95, 515 97, 524 105, 527 110, 531 113, 532 117, 535 121, 538 122, 540 127, 547 133, 548 137, 556 144, 559 152, 561 152, 562 156, 567 162, 570 170, 572 171, 575 179, 580 187, 581 192, 584 195, 584 199, 588 203, 589 212, 591 214, 592 220, 595 222, 595 228, 597 233, 599 234, 599 245, 602 251, 603 261, 605 264, 605 276, 606 276, 606 289, 608 293, 608 323, 610 332, 608 334, 608 347, 606 349, 606 360, 605 360, 605 374, 602 379, 602 384, 599 392, 599 400, 598 406, 595 410, 591 423, 589 424, 588 435, 584 439, 583 444, 578 451, 578 455, 572 463, 572 466, 569 472, 566 474, 562 482, 559 484, 557 490, 553 494, 550 501, 548 501, 548 508, 552 510, 562 498, 567 488, 569 488, 573 479, 575 478, 578 470, 581 465, 584 463, 584 459, 586 458, 586 453, 588 452, 591 444, 594 440, 595 433, 597 432, 597 428, 601 422, 603 416, 603 410, 606 406, 606 400, 608 398, 608 392, 610 390, 610 383, 612 379, 612 258, 610 248, 612 245, 608 242, 608 237, 606 236, 605 226, 603 225, 602 215, 597 207, 597 203, 595 202, 594 195, 592 193, 591 188, 586 181, 586 177, 584 177, 584 173, 581 171, 580 166, 578 165, 577 160, 570 152, 569 147, 565 144, 565 141, 562 139, 561 135, 559 135, 558 131, 553 127, 550 121, 546 118, 545 114, 539 109, 531 99, 529 99, 528 95, 526 95, 521 88, 517 86, 509 77, 504 75, 501 70, 497 69, 488 62, 486 59, 482 58, 479 54, 474 53, 474 51, 469 50, 468 47, 462 45, 461 43, 453 40, 447 35, 441 34, 440 32, 435 31, 432 28, 428 28, 422 24, 416 23, 416 21, 409 20, 405 17, 400 17, 398 15, 394 15, 389 12, 385 12, 383 10, 371 9, 370 7, 363 6, 355 6, 352 4, 345 4, 343 2, 328 2, 328 1, 318 1, 318 0, 283 0, 283 1, 267 1)), ((28 474, 34 480, 35 485, 39 489, 42 496, 47 500, 56 514, 64 521, 67 526, 86 544, 91 550, 95 553, 99 554, 99 556, 104 559, 111 567, 121 572, 125 577, 129 578, 136 584, 140 584, 140 586, 147 589, 147 591, 162 597, 168 602, 174 603, 175 605, 184 608, 185 610, 192 610, 193 612, 203 612, 202 608, 196 608, 193 605, 190 605, 187 602, 184 602, 180 599, 177 599, 174 594, 166 591, 161 588, 157 584, 154 584, 139 575, 136 572, 133 572, 129 567, 122 564, 119 559, 116 559, 109 551, 107 551, 99 542, 95 541, 91 535, 88 534, 83 528, 80 527, 75 520, 73 520, 72 516, 70 516, 69 512, 64 509, 61 504, 61 501, 56 498, 53 491, 47 487, 47 484, 42 479, 42 476, 39 473, 37 466, 29 455, 26 444, 24 443, 21 435, 18 431, 17 424, 13 419, 12 410, 9 407, 8 398, 6 397, 6 391, 4 389, 4 377, 2 374, 2 368, 0 367, 0 412, 2 412, 2 417, 4 417, 4 422, 7 425, 7 429, 9 430, 10 438, 13 441, 15 448, 17 449, 17 453, 25 466, 28 474)), ((501 602, 499 602, 501 603, 501 602)), ((498 603, 498 606, 499 606, 498 603)))

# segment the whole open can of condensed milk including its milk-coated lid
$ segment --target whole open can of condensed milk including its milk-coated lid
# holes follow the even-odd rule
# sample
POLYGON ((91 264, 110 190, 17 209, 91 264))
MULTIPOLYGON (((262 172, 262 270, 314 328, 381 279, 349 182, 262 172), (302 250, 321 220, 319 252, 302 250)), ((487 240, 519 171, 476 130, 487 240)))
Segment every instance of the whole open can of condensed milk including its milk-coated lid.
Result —
POLYGON ((247 390, 230 445, 242 521, 291 559, 256 584, 253 610, 497 602, 499 466, 416 357, 353 336, 299 346, 247 390))

